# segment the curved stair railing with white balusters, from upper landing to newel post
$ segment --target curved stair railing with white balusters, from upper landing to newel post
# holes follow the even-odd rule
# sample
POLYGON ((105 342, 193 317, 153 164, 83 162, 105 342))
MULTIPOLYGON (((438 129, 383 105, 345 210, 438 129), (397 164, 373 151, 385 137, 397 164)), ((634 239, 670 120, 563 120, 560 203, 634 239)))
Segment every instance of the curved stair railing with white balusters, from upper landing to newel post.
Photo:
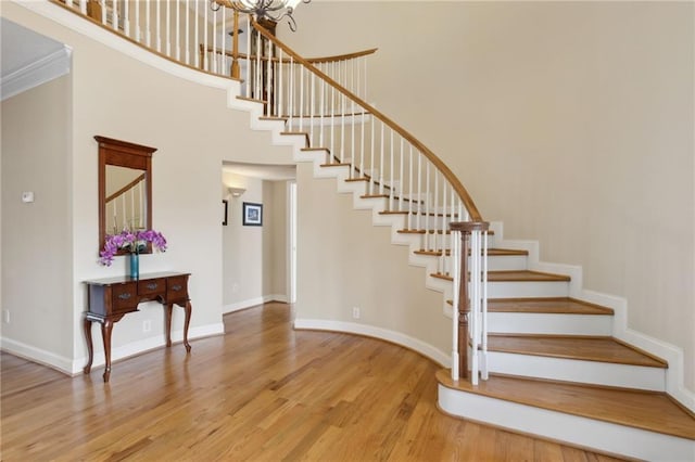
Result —
POLYGON ((251 94, 264 102, 267 117, 282 118, 290 132, 307 137, 306 151, 324 152, 326 167, 346 166, 348 181, 364 181, 364 197, 386 198, 386 214, 405 215, 402 232, 422 235, 421 251, 438 255, 438 274, 456 271, 452 377, 468 377, 470 347, 471 382, 485 380, 489 223, 470 195, 413 134, 258 24, 253 28, 256 42, 265 39, 267 62, 264 72, 247 76, 251 94))

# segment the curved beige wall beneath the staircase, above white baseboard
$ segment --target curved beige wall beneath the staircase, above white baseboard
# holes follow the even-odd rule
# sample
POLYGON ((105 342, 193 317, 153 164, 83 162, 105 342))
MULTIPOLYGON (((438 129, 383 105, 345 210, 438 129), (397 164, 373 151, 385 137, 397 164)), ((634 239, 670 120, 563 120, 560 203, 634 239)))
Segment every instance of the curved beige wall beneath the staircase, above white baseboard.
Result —
POLYGON ((399 332, 451 351, 451 320, 441 293, 425 287, 427 272, 408 265, 409 247, 391 244, 391 228, 354 210, 334 179, 314 179, 300 164, 296 318, 357 322, 399 332), (352 318, 352 308, 361 318, 352 318))

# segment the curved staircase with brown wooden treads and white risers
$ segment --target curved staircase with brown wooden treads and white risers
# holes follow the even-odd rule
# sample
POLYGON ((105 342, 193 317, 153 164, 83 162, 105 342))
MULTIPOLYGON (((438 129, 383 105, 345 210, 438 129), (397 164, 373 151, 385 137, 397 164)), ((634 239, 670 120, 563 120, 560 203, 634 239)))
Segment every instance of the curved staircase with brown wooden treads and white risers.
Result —
MULTIPOLYGON (((278 61, 283 59, 280 54, 278 61)), ((300 56, 293 59, 304 61, 300 56)), ((210 85, 217 85, 217 80, 210 85)), ((462 209, 459 204, 454 206, 453 200, 446 208, 447 197, 450 194, 453 197, 454 192, 459 195, 457 201, 469 205, 467 193, 463 185, 458 188, 458 179, 451 178, 448 168, 435 164, 442 167, 442 183, 446 179, 453 184, 444 187, 443 207, 438 207, 435 193, 431 210, 405 214, 393 209, 391 205, 397 198, 394 191, 404 189, 400 181, 396 184, 380 177, 380 191, 376 193, 371 176, 377 177, 377 168, 356 168, 356 159, 352 163, 329 147, 316 145, 319 143, 312 142, 316 137, 304 132, 301 125, 296 130, 292 120, 295 116, 289 119, 273 116, 266 101, 240 97, 238 82, 225 86, 229 91, 228 105, 249 111, 252 128, 271 131, 277 144, 293 145, 295 162, 312 162, 316 178, 336 178, 338 192, 353 194, 354 208, 371 209, 375 226, 391 227, 391 243, 409 246, 409 264, 425 268, 426 286, 443 293, 444 315, 451 317, 452 308, 446 303, 453 293, 447 272, 448 240, 438 239, 446 231, 439 224, 414 228, 413 221, 408 221, 414 215, 424 221, 440 221, 441 217, 445 221, 464 219, 462 211, 458 215, 453 211, 462 209), (434 246, 430 245, 432 236, 434 246)), ((364 103, 358 98, 352 100, 364 103)), ((354 104, 352 108, 354 114, 354 104)), ((361 123, 374 120, 378 113, 371 110, 369 117, 361 114, 361 123)), ((391 137, 400 128, 384 116, 381 119, 383 151, 383 127, 389 127, 391 137)), ((429 150, 409 133, 404 139, 429 157, 429 150)), ((395 144, 391 141, 392 152, 395 144)), ((381 165, 382 176, 387 168, 387 164, 381 165)), ((393 161, 389 169, 393 178, 396 170, 393 161)), ((434 179, 435 184, 439 178, 434 179)), ((407 202, 421 202, 419 184, 417 195, 413 181, 408 192, 407 202)), ((577 299, 570 275, 539 270, 522 246, 517 248, 502 239, 501 227, 490 233, 490 247, 491 335, 486 362, 491 376, 473 386, 467 381, 452 380, 448 370, 442 369, 437 374, 439 408, 455 416, 608 453, 646 460, 695 460, 695 419, 666 394, 667 362, 615 338, 611 309, 577 299)), ((432 308, 433 316, 440 316, 435 311, 439 307, 432 308)), ((420 352, 443 364, 451 360, 437 351, 420 349, 420 352)))

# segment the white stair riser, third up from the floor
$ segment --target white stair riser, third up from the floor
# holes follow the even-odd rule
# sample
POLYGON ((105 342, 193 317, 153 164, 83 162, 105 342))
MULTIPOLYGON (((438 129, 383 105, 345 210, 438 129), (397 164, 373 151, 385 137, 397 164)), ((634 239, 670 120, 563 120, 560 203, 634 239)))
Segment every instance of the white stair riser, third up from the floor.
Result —
POLYGON ((611 335, 612 317, 602 315, 488 312, 490 333, 611 335))

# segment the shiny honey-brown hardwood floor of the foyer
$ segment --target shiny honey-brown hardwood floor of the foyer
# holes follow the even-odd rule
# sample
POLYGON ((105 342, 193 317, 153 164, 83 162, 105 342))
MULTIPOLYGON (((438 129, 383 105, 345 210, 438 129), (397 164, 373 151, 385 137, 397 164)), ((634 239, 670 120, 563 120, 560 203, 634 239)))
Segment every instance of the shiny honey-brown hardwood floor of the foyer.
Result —
POLYGON ((227 334, 67 377, 1 356, 3 461, 615 461, 457 420, 430 360, 354 335, 293 331, 288 305, 227 315, 227 334))

